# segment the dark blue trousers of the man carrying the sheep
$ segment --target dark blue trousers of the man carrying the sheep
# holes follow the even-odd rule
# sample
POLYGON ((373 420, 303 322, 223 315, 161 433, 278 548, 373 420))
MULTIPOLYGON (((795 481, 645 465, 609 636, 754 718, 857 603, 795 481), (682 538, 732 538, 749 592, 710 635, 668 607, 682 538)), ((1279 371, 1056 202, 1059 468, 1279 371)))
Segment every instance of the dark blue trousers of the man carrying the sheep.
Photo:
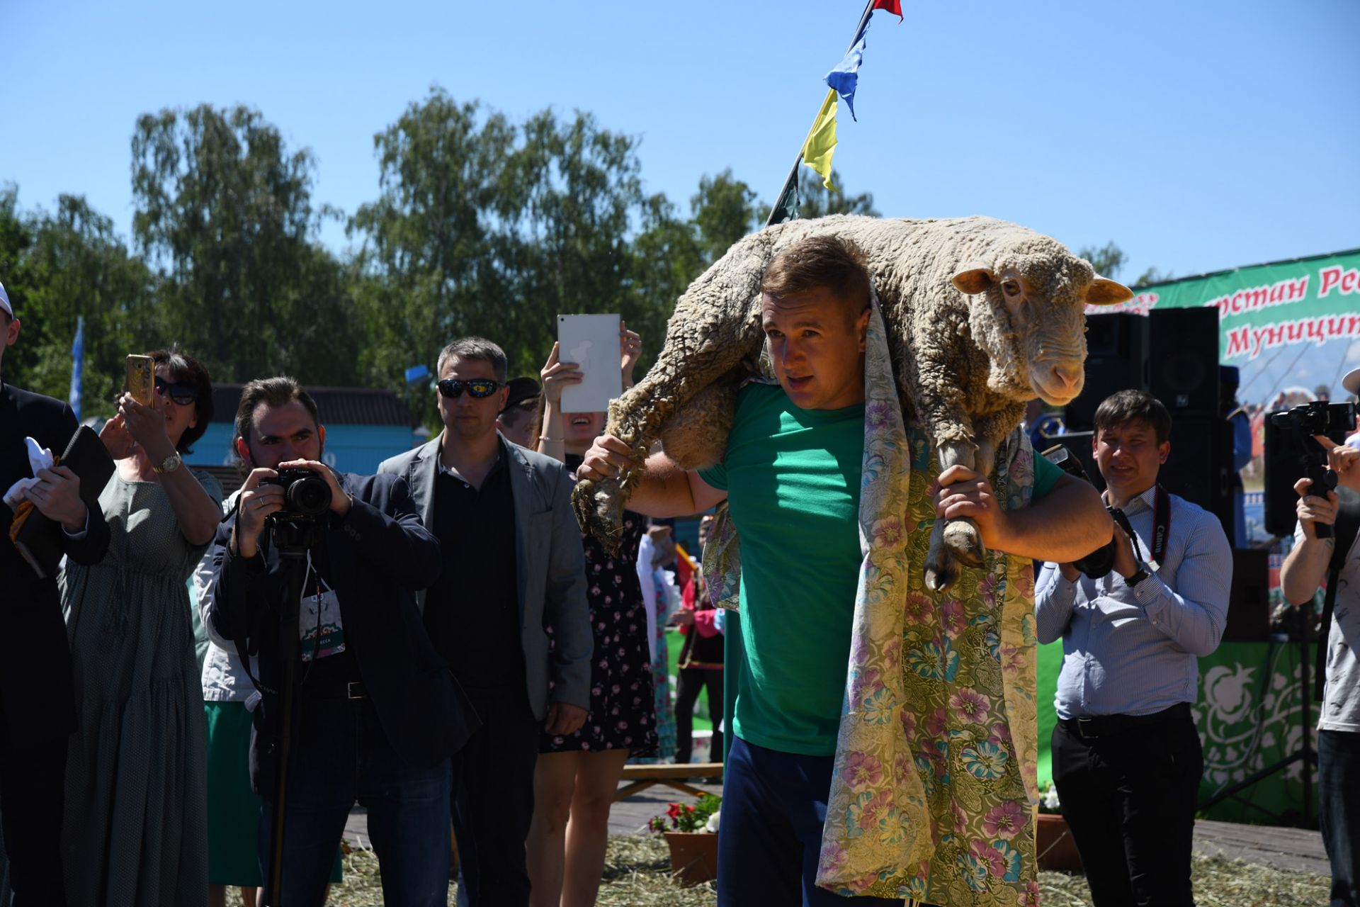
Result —
POLYGON ((733 736, 722 776, 719 907, 902 907, 902 899, 850 900, 817 888, 831 772, 831 756, 777 752, 733 736))

